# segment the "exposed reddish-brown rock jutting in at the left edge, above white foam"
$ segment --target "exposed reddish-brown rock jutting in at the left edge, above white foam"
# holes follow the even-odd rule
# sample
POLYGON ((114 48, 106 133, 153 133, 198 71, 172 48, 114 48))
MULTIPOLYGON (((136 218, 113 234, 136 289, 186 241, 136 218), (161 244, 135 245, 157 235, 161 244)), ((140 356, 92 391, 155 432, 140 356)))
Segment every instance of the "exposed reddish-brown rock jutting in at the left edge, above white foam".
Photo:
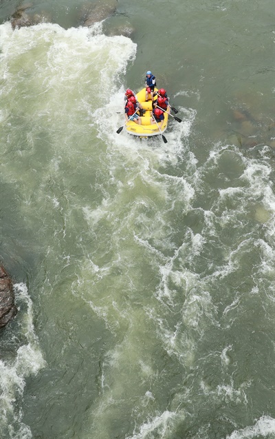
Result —
POLYGON ((0 265, 0 328, 7 325, 16 314, 17 307, 14 305, 12 280, 4 267, 0 265))

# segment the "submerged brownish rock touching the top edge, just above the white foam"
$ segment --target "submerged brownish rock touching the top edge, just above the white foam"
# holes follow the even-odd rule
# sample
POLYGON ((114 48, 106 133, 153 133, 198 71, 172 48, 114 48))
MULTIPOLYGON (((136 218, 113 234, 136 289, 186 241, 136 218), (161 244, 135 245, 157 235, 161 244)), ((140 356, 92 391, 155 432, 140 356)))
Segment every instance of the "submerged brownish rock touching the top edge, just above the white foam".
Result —
POLYGON ((91 3, 88 3, 83 10, 81 23, 83 26, 89 27, 98 21, 107 19, 115 12, 116 6, 117 0, 100 0, 94 7, 91 3))

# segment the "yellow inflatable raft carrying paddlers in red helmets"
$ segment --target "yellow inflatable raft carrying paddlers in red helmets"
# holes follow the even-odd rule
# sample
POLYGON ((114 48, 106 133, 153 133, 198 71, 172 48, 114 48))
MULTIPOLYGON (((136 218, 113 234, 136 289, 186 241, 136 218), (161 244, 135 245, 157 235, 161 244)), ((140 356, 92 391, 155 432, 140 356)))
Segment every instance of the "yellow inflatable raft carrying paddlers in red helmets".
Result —
MULTIPOLYGON (((137 101, 142 105, 142 108, 146 110, 144 116, 141 117, 142 124, 138 125, 137 123, 133 121, 128 121, 126 123, 126 130, 129 132, 129 134, 133 134, 133 136, 140 136, 140 137, 148 137, 148 136, 157 136, 157 134, 162 134, 168 125, 168 113, 164 112, 164 123, 162 125, 162 128, 159 128, 159 123, 152 123, 150 121, 151 118, 151 111, 152 111, 152 101, 151 96, 149 95, 150 99, 148 102, 145 101, 145 92, 146 88, 143 88, 136 94, 137 101)), ((155 88, 155 92, 157 92, 157 88, 155 88)), ((154 100, 157 99, 157 96, 155 96, 154 100)), ((138 113, 137 113, 138 114, 138 113)))

